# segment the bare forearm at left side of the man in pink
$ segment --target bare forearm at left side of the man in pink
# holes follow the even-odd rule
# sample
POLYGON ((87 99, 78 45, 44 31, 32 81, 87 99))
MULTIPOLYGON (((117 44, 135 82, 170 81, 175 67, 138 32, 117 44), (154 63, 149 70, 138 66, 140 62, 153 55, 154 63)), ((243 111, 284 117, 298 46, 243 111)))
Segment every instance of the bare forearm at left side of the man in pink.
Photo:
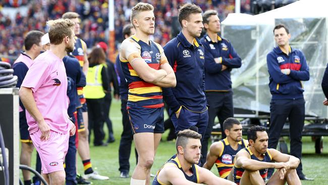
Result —
POLYGON ((32 94, 32 89, 21 87, 19 90, 19 98, 21 99, 25 109, 30 113, 30 115, 37 123, 44 120, 42 114, 36 107, 36 103, 32 94))

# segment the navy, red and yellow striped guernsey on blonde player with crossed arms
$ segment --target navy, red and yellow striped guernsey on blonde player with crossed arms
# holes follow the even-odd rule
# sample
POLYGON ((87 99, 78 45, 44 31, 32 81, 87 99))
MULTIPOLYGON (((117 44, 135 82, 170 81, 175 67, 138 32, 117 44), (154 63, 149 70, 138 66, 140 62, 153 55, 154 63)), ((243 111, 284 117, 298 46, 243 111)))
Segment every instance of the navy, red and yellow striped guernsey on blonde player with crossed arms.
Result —
MULTIPOLYGON (((132 36, 129 39, 130 44, 137 43, 140 46, 140 54, 145 63, 149 67, 159 70, 160 69, 160 45, 150 41, 147 44, 132 36), (135 43, 134 43, 135 42, 135 43)), ((126 44, 125 43, 122 43, 126 44)), ((126 47, 126 46, 125 46, 126 47)), ((121 67, 123 74, 129 86, 128 104, 127 109, 130 107, 143 107, 143 108, 161 108, 163 104, 162 88, 153 83, 148 83, 139 77, 137 72, 133 69, 128 60, 123 60, 120 57, 121 67)))

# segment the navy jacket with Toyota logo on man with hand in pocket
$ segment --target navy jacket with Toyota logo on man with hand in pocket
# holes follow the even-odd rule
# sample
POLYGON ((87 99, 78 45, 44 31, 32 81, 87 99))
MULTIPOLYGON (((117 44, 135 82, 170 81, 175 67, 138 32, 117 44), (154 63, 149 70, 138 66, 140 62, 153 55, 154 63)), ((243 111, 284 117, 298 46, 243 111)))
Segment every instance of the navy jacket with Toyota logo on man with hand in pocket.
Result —
POLYGON ((205 59, 200 40, 195 38, 192 45, 180 32, 163 49, 177 79, 175 88, 162 88, 165 102, 174 112, 180 106, 194 112, 205 111, 205 59))

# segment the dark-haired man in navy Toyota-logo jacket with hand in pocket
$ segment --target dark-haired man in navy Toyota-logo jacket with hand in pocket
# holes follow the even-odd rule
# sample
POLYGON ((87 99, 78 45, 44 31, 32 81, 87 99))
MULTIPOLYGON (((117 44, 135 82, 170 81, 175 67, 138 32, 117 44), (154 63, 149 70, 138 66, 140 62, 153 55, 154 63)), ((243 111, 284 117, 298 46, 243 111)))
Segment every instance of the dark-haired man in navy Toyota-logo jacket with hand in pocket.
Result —
POLYGON ((163 88, 164 100, 170 107, 170 117, 176 133, 197 127, 202 136, 208 122, 205 98, 204 47, 197 37, 202 28, 201 9, 185 4, 178 15, 182 31, 164 49, 176 78, 175 88, 163 88))

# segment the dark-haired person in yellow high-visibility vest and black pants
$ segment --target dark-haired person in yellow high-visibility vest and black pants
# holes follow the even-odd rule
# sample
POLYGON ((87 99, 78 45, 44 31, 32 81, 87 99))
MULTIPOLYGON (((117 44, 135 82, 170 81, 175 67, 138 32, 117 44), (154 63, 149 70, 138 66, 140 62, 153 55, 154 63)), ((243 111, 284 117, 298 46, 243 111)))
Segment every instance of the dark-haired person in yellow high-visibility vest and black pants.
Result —
POLYGON ((104 138, 102 104, 109 84, 106 56, 101 48, 93 48, 88 60, 89 68, 86 77, 87 84, 84 87, 84 97, 88 106, 89 130, 91 132, 93 128, 94 146, 106 146, 102 142, 104 138))

